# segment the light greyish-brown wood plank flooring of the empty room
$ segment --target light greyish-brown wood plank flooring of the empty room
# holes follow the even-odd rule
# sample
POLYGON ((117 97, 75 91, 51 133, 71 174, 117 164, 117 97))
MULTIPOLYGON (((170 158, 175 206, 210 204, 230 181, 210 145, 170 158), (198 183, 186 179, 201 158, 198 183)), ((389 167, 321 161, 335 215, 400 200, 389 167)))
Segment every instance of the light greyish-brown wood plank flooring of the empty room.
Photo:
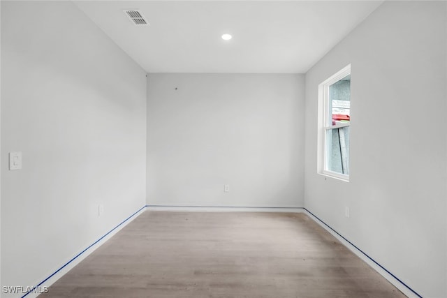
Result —
POLYGON ((405 297, 305 214, 145 211, 51 297, 405 297))

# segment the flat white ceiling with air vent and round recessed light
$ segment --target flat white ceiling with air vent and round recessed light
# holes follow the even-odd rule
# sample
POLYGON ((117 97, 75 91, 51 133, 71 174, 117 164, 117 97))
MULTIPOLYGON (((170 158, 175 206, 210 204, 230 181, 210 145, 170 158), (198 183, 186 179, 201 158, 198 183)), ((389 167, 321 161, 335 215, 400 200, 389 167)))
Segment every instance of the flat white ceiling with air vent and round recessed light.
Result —
POLYGON ((75 1, 147 73, 305 73, 382 2, 75 1))

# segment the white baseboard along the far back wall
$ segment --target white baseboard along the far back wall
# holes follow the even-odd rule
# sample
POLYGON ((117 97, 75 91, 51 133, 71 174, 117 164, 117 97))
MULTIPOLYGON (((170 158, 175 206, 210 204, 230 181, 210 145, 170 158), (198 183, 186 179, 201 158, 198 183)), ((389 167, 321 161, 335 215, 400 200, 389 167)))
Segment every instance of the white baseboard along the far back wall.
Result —
POLYGON ((188 212, 291 212, 302 213, 303 207, 229 207, 229 206, 161 206, 147 205, 149 211, 188 211, 188 212))

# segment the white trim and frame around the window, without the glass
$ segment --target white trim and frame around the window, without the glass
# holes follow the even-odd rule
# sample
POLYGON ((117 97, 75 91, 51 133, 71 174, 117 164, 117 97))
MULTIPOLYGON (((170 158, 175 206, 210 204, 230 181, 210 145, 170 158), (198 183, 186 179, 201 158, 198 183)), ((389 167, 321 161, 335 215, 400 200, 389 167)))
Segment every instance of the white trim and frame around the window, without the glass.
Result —
POLYGON ((335 75, 332 75, 328 78, 328 80, 325 80, 324 82, 321 82, 321 84, 318 85, 318 152, 317 152, 317 172, 318 174, 321 174, 326 177, 332 177, 335 179, 339 179, 342 181, 349 182, 349 174, 340 174, 337 172, 332 172, 325 170, 326 167, 326 137, 325 132, 328 129, 334 129, 334 128, 342 128, 346 126, 350 126, 350 124, 337 124, 335 126, 332 126, 332 123, 328 123, 329 117, 329 102, 328 100, 325 100, 325 98, 328 98, 329 96, 329 87, 330 85, 338 82, 339 80, 342 80, 342 78, 346 77, 346 75, 351 74, 351 64, 348 66, 345 66, 342 68, 342 70, 339 70, 335 75))

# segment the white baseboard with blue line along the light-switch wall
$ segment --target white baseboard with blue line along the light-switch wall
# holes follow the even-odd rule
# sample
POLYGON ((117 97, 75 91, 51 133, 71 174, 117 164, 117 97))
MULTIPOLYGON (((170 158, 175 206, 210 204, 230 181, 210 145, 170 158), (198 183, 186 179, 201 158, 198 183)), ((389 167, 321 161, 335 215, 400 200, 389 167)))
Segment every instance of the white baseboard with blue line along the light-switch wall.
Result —
MULTIPOLYGON (((99 246, 103 245, 105 243, 105 241, 108 241, 108 239, 112 238, 113 235, 117 234, 117 232, 119 232, 119 230, 121 230, 126 225, 131 223, 131 221, 133 221, 135 218, 137 218, 137 216, 142 214, 142 212, 144 212, 145 210, 146 210, 146 206, 140 208, 134 214, 132 214, 131 216, 126 218, 124 221, 122 221, 122 223, 119 223, 117 226, 115 226, 115 228, 113 228, 112 230, 110 230, 109 232, 104 234, 102 237, 100 237, 98 240, 96 240, 93 244, 91 244, 90 246, 88 246, 84 250, 80 251, 78 254, 76 254, 74 258, 71 258, 71 260, 66 260, 66 262, 64 262, 59 267, 59 269, 57 269, 56 271, 52 272, 52 274, 48 274, 48 277, 43 279, 43 281, 41 281, 40 283, 38 283, 35 286, 35 288, 37 288, 37 289, 40 288, 41 290, 43 290, 43 287, 47 287, 47 288, 50 287, 50 285, 55 283, 59 278, 61 278, 68 271, 73 269, 73 267, 75 267, 82 260, 87 258, 91 253, 93 253, 96 250, 96 248, 98 248, 99 246)), ((35 297, 37 297, 40 294, 41 293, 34 293, 33 291, 31 291, 31 292, 23 295, 22 298, 24 298, 24 297, 35 298, 35 297)))

